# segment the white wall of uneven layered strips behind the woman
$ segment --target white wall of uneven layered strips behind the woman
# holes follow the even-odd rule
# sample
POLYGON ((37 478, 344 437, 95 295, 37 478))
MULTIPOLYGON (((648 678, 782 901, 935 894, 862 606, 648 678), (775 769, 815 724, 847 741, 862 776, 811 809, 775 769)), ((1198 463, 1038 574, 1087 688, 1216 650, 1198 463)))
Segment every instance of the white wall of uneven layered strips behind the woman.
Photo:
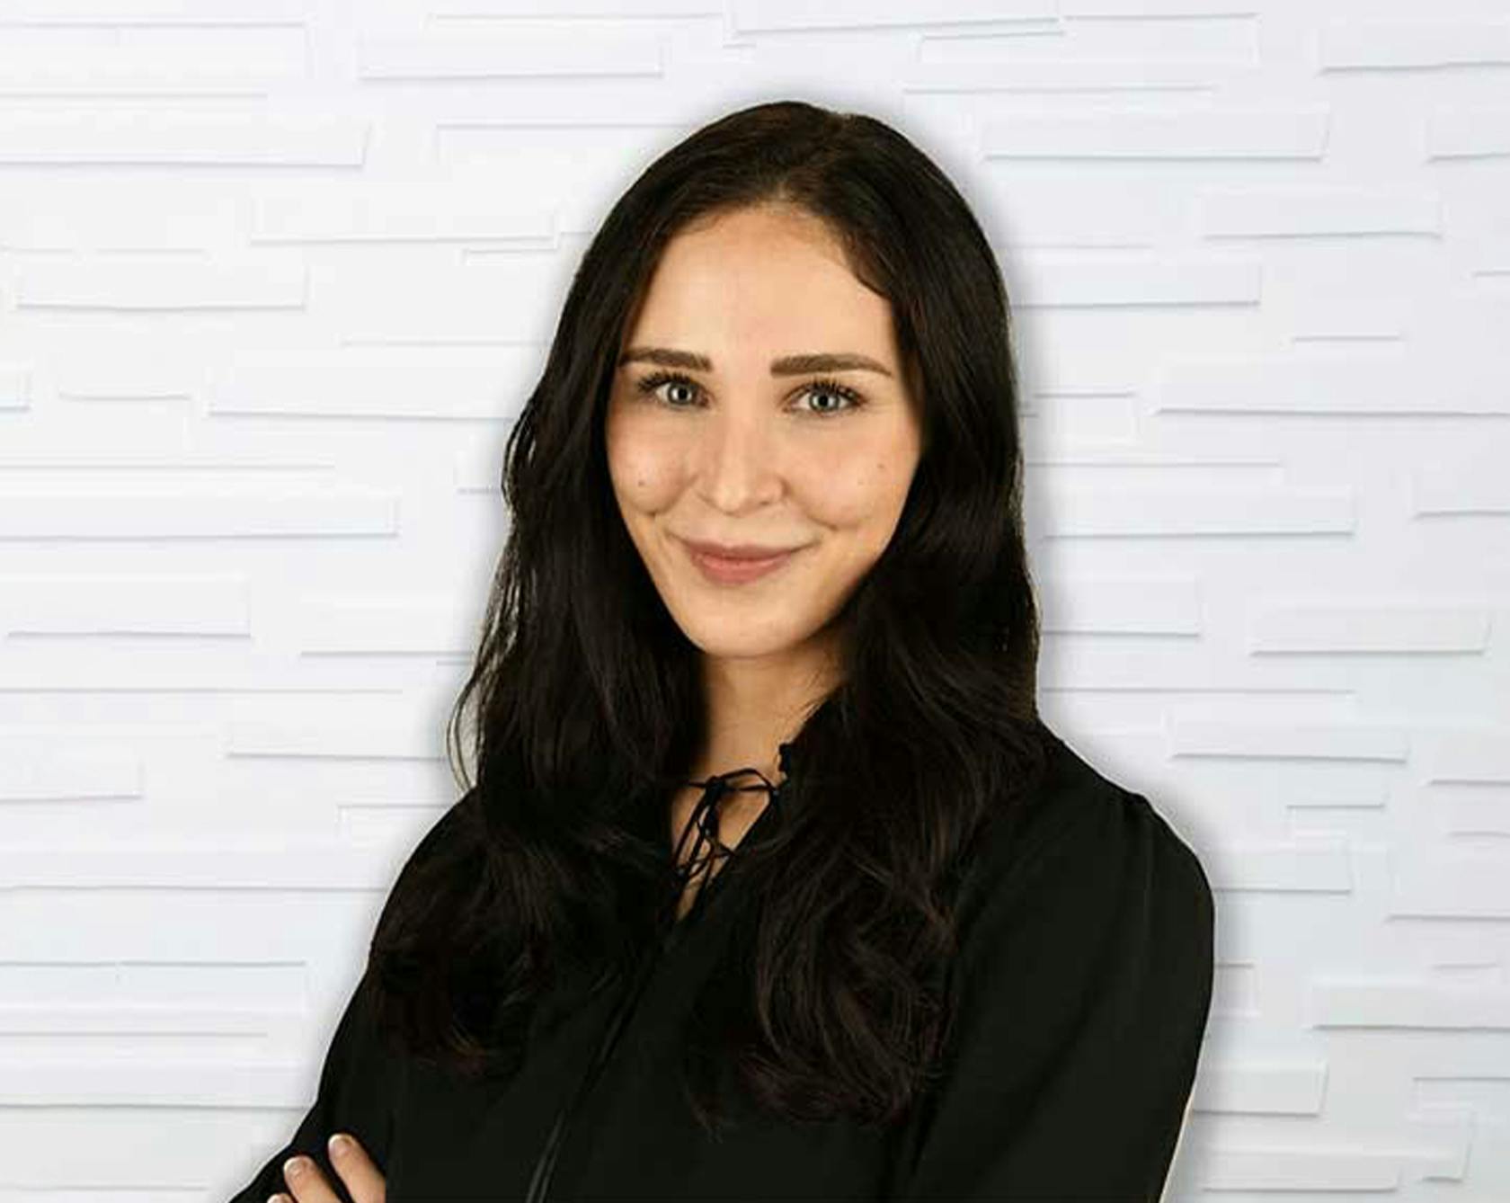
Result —
POLYGON ((1510 5, 0 0, 0 1200, 291 1130, 584 239, 778 95, 1000 248, 1045 712, 1217 889, 1167 1198, 1510 1198, 1510 5))

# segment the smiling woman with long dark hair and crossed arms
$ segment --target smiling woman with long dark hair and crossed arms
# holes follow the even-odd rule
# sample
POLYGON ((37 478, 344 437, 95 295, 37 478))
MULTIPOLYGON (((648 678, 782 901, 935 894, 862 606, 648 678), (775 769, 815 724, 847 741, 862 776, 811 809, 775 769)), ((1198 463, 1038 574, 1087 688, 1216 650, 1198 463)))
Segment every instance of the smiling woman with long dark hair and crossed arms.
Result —
POLYGON ((1213 899, 1037 716, 1021 484, 911 142, 773 103, 652 163, 506 449, 476 784, 237 1201, 1158 1198, 1213 899))

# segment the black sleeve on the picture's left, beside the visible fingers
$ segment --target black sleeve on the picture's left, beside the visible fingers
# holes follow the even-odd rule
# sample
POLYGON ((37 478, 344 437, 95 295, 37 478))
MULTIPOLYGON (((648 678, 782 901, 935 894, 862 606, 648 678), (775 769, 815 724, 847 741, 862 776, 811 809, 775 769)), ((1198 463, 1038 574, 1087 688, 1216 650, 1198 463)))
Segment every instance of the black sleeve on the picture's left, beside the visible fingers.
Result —
POLYGON ((393 1058, 379 1046, 371 1022, 370 978, 364 972, 335 1026, 320 1070, 314 1105, 293 1137, 273 1153, 257 1176, 230 1203, 267 1203, 275 1191, 288 1191, 282 1164, 294 1153, 314 1158, 320 1171, 343 1200, 340 1176, 331 1165, 325 1141, 334 1132, 350 1132, 379 1167, 387 1164, 393 1138, 393 1058))

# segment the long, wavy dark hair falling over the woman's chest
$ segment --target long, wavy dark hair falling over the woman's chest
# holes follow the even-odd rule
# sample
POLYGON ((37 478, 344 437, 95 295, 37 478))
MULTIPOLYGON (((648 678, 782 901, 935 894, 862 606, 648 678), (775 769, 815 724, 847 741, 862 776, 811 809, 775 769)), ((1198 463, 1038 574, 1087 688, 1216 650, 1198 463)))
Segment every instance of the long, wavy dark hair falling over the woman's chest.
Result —
POLYGON ((476 783, 411 857, 370 949, 382 1026, 414 1056, 510 1073, 547 988, 621 979, 672 889, 667 821, 705 736, 701 651, 609 482, 616 352, 667 239, 782 203, 886 296, 923 453, 891 543, 835 620, 841 683, 790 744, 782 819, 737 849, 743 932, 683 1062, 707 1130, 737 1073, 767 1114, 886 1124, 936 1081, 953 898, 988 821, 1045 763, 1006 286, 950 180, 861 113, 757 104, 698 128, 618 199, 566 293, 504 449, 512 512, 476 663, 476 783), (732 985, 731 985, 732 984, 732 985))

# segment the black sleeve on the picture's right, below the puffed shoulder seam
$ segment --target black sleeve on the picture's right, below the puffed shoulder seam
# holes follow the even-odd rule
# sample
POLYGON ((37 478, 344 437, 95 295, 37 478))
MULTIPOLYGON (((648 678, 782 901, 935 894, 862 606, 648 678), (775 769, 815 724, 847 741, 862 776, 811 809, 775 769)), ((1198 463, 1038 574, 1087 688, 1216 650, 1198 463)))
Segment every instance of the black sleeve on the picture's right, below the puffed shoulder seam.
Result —
POLYGON ((1066 813, 982 890, 898 1200, 1160 1200, 1211 1004, 1211 889, 1140 795, 1066 813))

